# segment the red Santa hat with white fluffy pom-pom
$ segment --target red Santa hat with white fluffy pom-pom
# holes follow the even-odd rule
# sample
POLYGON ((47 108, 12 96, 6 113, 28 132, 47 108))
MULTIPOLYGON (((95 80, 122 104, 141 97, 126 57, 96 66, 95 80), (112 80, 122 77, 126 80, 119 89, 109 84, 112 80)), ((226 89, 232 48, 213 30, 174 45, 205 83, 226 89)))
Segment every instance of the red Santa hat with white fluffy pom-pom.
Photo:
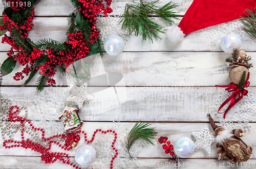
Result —
POLYGON ((191 32, 246 16, 244 12, 255 6, 256 0, 194 0, 179 26, 168 26, 166 34, 170 41, 180 42, 191 32))

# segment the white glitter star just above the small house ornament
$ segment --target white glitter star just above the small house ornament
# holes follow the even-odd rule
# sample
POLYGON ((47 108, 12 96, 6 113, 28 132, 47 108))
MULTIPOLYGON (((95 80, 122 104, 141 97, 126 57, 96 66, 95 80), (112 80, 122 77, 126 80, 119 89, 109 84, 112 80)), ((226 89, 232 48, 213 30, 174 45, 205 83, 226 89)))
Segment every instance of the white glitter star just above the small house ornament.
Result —
POLYGON ((83 83, 80 87, 70 85, 71 95, 67 98, 67 101, 74 101, 79 108, 82 108, 84 101, 88 103, 92 102, 92 97, 86 93, 87 83, 83 83))

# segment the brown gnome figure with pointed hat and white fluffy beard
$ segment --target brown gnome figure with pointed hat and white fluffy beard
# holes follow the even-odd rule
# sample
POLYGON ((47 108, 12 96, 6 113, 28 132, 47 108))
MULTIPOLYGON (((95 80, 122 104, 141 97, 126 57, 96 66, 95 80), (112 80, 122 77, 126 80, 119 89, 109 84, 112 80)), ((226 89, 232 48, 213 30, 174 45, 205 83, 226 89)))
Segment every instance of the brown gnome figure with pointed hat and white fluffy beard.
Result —
POLYGON ((221 126, 217 126, 210 114, 209 121, 212 129, 215 131, 217 140, 217 154, 219 160, 227 159, 229 162, 240 163, 247 161, 252 154, 252 147, 246 145, 240 138, 244 136, 243 130, 233 129, 231 131, 225 130, 221 126))

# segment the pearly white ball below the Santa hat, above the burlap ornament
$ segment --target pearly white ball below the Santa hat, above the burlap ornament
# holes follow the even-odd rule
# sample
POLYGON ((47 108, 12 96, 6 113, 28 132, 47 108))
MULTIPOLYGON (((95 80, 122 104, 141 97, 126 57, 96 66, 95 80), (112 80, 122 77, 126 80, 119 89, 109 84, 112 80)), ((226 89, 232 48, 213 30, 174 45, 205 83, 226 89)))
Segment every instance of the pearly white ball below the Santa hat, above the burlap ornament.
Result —
POLYGON ((221 38, 221 49, 226 53, 233 53, 233 49, 240 49, 242 44, 241 38, 237 34, 225 35, 221 38))

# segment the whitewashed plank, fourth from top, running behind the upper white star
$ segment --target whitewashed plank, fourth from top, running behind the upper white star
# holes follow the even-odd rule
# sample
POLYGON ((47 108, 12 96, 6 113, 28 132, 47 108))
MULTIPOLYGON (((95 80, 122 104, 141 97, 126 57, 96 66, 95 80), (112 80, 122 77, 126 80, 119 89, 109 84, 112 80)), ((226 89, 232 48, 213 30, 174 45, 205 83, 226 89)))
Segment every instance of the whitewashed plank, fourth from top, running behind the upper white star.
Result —
MULTIPOLYGON (((50 98, 60 98, 65 101, 69 88, 46 88, 37 99, 43 99, 42 95, 50 98), (53 93, 58 93, 54 96, 53 93)), ((256 88, 250 87, 249 99, 254 98, 256 88)), ((9 98, 13 104, 19 106, 34 105, 35 88, 6 88, 1 91, 5 98, 9 98)), ((206 114, 210 112, 216 121, 222 115, 217 116, 220 100, 226 99, 220 88, 122 88, 116 87, 117 95, 111 88, 88 87, 88 93, 94 97, 94 104, 84 102, 79 116, 83 121, 151 121, 151 122, 208 122, 206 114), (102 90, 103 89, 103 90, 102 90), (98 93, 93 93, 100 91, 98 93), (119 105, 119 102, 120 105, 119 105), (216 114, 216 115, 215 115, 216 114), (150 116, 149 116, 150 115, 150 116)), ((49 102, 49 104, 52 104, 49 102)), ((249 105, 245 105, 248 106, 249 105)), ((58 108, 62 109, 60 105, 58 108)), ((56 112, 56 110, 54 111, 56 112)), ((230 111, 231 113, 232 111, 230 111)), ((30 112, 33 114, 33 112, 30 112)), ((252 117, 255 117, 253 115, 252 117)), ((52 117, 44 117, 45 120, 57 120, 52 117)), ((57 117, 58 118, 58 117, 57 117)))

